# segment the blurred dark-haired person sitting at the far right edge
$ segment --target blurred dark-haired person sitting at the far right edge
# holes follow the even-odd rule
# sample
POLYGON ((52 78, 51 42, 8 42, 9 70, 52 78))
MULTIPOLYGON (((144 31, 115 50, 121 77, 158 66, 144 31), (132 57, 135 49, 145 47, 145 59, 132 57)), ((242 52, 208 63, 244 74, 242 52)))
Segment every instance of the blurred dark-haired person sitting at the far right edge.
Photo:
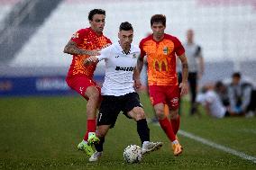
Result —
POLYGON ((253 94, 253 86, 251 83, 242 81, 239 72, 233 73, 232 82, 228 87, 228 95, 230 100, 231 111, 236 114, 253 116, 255 111, 255 98, 253 94), (253 101, 254 100, 254 101, 253 101))

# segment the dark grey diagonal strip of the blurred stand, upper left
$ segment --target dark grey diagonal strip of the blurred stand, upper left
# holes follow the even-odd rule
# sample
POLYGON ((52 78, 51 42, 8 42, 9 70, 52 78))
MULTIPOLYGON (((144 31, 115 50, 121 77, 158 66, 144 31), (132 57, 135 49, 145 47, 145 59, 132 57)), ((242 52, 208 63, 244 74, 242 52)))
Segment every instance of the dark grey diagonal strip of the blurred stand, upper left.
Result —
POLYGON ((2 63, 14 58, 23 44, 32 37, 44 19, 61 0, 23 0, 12 7, 5 16, 0 31, 0 50, 2 63))

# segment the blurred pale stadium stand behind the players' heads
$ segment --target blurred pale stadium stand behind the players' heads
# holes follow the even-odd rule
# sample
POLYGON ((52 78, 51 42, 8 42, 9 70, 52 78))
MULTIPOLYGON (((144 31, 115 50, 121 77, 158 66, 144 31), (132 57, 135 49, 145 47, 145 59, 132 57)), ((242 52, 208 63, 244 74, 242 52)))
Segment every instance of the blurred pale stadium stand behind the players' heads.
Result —
MULTIPOLYGON (((23 41, 20 49, 14 50, 13 58, 1 62, 0 76, 65 76, 71 56, 62 52, 64 46, 74 31, 88 25, 89 10, 103 8, 106 11, 105 35, 113 41, 117 40, 120 22, 129 21, 135 32, 133 42, 139 43, 151 32, 150 18, 155 13, 167 16, 166 32, 180 40, 185 41, 185 31, 192 28, 206 60, 207 76, 201 83, 229 77, 233 70, 241 70, 244 76, 256 79, 256 75, 251 74, 256 67, 256 5, 253 0, 63 0, 56 6, 50 15, 44 16, 40 26, 28 26, 36 30, 23 41)), ((102 67, 97 68, 96 75, 103 74, 102 67)))

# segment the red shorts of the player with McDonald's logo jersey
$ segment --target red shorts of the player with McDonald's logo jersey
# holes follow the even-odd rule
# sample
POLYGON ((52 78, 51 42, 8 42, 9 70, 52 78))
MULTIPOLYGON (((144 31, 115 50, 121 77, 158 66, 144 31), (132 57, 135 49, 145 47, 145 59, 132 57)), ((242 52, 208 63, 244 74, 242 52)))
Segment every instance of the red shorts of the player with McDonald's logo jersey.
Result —
POLYGON ((179 105, 180 92, 178 85, 150 85, 151 103, 168 104, 169 109, 176 110, 179 105))

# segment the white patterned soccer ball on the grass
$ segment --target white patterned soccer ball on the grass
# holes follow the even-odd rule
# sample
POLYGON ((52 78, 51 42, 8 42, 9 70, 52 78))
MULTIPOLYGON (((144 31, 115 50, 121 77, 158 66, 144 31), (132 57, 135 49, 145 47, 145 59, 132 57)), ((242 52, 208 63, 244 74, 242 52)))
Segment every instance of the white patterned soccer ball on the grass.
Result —
POLYGON ((124 148, 123 158, 127 163, 138 163, 142 160, 142 148, 137 145, 129 145, 124 148))

